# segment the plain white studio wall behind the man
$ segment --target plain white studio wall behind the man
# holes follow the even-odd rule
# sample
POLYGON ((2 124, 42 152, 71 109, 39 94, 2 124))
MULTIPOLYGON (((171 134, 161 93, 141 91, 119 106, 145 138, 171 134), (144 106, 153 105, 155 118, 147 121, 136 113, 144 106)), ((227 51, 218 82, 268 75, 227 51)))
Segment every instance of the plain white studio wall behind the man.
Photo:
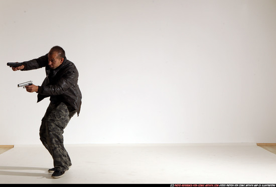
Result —
POLYGON ((65 143, 276 142, 276 1, 0 0, 0 144, 40 144, 44 69, 60 45, 79 70, 65 143))

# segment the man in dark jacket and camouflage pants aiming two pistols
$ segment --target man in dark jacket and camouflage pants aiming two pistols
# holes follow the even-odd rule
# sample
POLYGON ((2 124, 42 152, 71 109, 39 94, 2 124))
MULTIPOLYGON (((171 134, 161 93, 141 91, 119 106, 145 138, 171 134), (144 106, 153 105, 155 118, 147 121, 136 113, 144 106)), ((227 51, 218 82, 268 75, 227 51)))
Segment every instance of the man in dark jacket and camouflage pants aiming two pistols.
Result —
POLYGON ((53 178, 59 178, 72 165, 70 157, 63 145, 63 129, 71 117, 79 115, 81 107, 81 92, 78 86, 78 70, 66 59, 65 51, 53 47, 48 54, 38 59, 23 62, 22 66, 13 67, 14 71, 33 70, 45 67, 46 78, 41 86, 26 86, 27 92, 37 92, 38 101, 50 97, 40 126, 40 140, 48 149, 54 160, 53 178))

